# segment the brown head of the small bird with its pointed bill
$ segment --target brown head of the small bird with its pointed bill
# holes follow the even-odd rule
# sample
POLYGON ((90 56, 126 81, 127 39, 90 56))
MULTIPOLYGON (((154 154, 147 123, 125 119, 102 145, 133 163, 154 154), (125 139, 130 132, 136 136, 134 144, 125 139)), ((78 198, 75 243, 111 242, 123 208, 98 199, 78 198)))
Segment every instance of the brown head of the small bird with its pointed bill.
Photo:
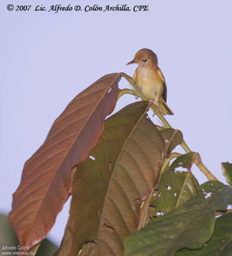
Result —
POLYGON ((146 48, 143 48, 138 52, 136 52, 134 60, 131 60, 130 62, 128 62, 127 65, 133 64, 133 63, 136 63, 142 67, 158 66, 156 54, 150 49, 146 49, 146 48))

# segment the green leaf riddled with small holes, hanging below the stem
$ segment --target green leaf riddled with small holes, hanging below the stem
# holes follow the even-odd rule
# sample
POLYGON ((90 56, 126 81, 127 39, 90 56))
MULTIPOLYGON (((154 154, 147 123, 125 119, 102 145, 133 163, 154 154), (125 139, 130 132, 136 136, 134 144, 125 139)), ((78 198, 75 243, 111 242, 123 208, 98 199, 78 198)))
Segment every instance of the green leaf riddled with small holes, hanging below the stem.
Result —
POLYGON ((197 186, 199 186, 198 181, 190 170, 188 172, 174 170, 179 166, 184 168, 190 167, 194 161, 194 157, 194 152, 179 156, 173 164, 171 164, 169 170, 164 172, 157 187, 159 193, 157 193, 154 200, 150 203, 150 205, 156 208, 156 210, 152 212, 152 216, 156 215, 159 211, 166 214, 188 201, 192 196, 199 194, 197 190, 197 186))

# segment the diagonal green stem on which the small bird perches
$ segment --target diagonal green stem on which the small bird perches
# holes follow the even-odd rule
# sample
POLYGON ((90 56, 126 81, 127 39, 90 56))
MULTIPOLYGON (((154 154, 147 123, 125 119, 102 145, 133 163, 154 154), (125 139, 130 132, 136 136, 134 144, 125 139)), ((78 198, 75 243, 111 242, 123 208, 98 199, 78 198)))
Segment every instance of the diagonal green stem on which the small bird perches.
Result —
MULTIPOLYGON (((148 99, 142 94, 142 92, 139 91, 137 85, 135 84, 135 80, 131 77, 128 76, 127 74, 121 72, 121 76, 127 79, 127 81, 134 87, 136 96, 140 97, 142 100, 148 101, 148 99)), ((123 90, 122 90, 123 91, 123 90)), ((131 91, 131 90, 130 90, 131 91)), ((127 92, 125 92, 127 93, 127 92)), ((129 92, 130 93, 130 92, 129 92)), ((132 94, 132 93, 131 93, 132 94)), ((133 94, 134 95, 134 94, 133 94)), ((170 124, 168 124, 167 120, 164 118, 164 116, 160 113, 159 108, 155 105, 152 104, 150 107, 153 112, 159 117, 161 122, 164 124, 165 128, 172 128, 170 124)), ((181 147, 184 149, 186 153, 191 152, 190 148, 187 146, 185 141, 183 140, 182 143, 180 144, 181 147)), ((170 159, 171 160, 171 159, 170 159)), ((169 160, 169 161, 170 161, 169 160)), ((166 162, 165 162, 166 164, 166 162)), ((197 157, 194 161, 194 164, 197 165, 197 167, 200 169, 201 172, 203 172, 208 180, 218 180, 202 163, 200 156, 197 157)), ((163 168, 162 168, 163 169, 163 168)), ((162 171, 162 170, 161 170, 162 171)))

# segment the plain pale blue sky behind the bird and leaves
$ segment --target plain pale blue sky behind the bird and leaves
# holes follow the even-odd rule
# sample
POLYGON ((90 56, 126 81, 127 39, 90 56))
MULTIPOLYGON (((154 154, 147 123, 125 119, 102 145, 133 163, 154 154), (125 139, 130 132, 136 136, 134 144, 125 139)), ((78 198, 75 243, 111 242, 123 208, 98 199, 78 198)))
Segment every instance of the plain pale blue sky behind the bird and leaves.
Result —
MULTIPOLYGON (((0 212, 8 214, 24 162, 40 147, 66 105, 101 76, 125 72, 141 48, 158 55, 167 83, 167 116, 222 182, 221 162, 232 162, 232 1, 20 1, 26 12, 0 3, 0 212), (34 4, 35 3, 35 4, 34 4), (35 12, 37 4, 149 5, 147 12, 35 12)), ((119 87, 128 88, 124 78, 119 87)), ((115 111, 134 102, 123 96, 115 111)), ((115 112, 114 111, 114 112, 115 112)), ((151 115, 150 115, 151 116, 151 115)), ((159 124, 157 117, 151 117, 159 124)), ((176 149, 175 151, 181 148, 176 149)), ((200 183, 204 175, 193 168, 200 183)), ((59 245, 69 205, 49 238, 59 245)))

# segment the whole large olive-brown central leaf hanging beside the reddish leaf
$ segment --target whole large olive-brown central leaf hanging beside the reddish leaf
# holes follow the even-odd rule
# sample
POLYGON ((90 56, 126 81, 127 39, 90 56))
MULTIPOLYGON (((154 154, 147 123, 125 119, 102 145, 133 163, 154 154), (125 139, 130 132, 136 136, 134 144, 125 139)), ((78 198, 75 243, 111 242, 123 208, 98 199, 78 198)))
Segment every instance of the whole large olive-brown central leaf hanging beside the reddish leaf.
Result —
POLYGON ((149 118, 147 102, 135 102, 105 121, 104 132, 73 179, 69 226, 72 253, 86 242, 97 255, 122 255, 123 240, 140 222, 140 205, 154 188, 164 140, 149 118))

